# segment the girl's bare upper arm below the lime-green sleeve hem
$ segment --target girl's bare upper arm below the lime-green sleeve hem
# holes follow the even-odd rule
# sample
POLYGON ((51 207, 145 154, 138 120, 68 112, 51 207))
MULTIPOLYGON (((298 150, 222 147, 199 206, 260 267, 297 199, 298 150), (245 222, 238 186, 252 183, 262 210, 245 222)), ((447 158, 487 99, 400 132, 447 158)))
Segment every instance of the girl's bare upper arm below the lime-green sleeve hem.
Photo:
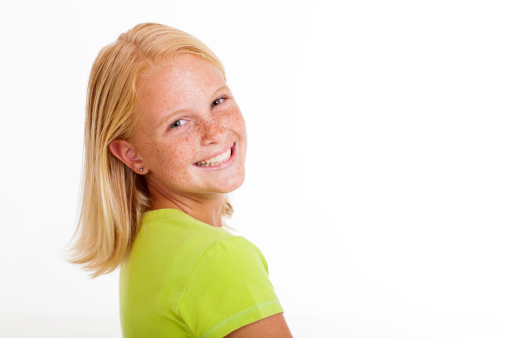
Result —
POLYGON ((277 313, 229 333, 226 338, 292 338, 283 313, 277 313))

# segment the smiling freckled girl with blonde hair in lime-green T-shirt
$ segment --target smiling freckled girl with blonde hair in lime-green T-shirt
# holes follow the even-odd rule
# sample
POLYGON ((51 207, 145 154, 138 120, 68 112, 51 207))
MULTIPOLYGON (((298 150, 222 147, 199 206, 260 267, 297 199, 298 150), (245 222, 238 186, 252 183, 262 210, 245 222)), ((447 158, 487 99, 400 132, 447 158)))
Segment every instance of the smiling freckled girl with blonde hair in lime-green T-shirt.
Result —
POLYGON ((292 337, 264 256, 222 228, 246 129, 209 48, 140 24, 102 49, 85 152, 73 262, 121 265, 124 337, 292 337))

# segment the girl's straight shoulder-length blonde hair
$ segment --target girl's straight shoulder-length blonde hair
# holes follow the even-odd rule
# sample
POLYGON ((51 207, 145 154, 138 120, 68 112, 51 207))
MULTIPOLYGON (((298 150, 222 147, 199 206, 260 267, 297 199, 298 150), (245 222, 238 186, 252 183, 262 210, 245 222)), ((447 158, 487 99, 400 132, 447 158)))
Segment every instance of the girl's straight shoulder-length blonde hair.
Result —
MULTIPOLYGON (((220 60, 201 41, 178 29, 143 23, 104 47, 88 83, 81 212, 70 261, 93 277, 115 270, 127 257, 150 197, 144 176, 109 151, 115 138, 133 136, 138 117, 136 83, 162 59, 182 53, 202 57, 224 75, 220 60)), ((232 215, 227 198, 222 216, 232 215)))

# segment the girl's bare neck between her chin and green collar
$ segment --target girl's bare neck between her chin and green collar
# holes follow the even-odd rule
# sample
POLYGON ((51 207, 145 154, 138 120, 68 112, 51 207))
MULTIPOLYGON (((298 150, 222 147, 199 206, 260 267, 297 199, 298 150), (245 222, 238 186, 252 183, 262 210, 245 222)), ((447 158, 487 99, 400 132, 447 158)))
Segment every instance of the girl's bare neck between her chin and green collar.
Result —
POLYGON ((149 210, 178 209, 213 227, 222 227, 222 205, 225 201, 225 194, 162 193, 152 186, 148 186, 148 188, 151 197, 149 210))

